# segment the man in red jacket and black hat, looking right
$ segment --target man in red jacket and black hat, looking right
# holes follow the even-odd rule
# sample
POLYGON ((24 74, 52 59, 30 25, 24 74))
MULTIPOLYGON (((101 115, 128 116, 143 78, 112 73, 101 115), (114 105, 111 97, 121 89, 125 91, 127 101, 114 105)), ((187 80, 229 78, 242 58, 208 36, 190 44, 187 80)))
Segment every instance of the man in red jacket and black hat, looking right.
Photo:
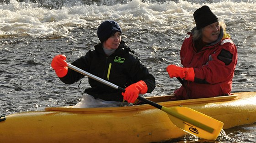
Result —
POLYGON ((169 76, 181 78, 182 86, 174 91, 175 100, 230 95, 237 63, 236 46, 206 5, 194 14, 196 27, 181 46, 181 66, 169 65, 169 76))

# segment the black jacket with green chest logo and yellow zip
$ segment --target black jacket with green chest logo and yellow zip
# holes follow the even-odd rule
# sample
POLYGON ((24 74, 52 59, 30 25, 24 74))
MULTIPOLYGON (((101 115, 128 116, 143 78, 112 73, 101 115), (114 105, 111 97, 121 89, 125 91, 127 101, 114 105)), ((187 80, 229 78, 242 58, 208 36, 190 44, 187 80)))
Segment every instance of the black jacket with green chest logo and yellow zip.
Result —
MULTIPOLYGON (((148 87, 148 93, 155 89, 155 77, 149 74, 148 69, 141 64, 138 56, 121 41, 115 52, 106 56, 102 44, 97 44, 95 50, 88 51, 71 64, 80 69, 111 82, 118 87, 128 87, 132 83, 143 80, 148 87)), ((84 75, 68 69, 68 74, 60 80, 66 84, 78 82, 84 75)), ((109 87, 91 78, 88 79, 91 88, 85 89, 85 93, 105 101, 123 101, 121 91, 109 87)))

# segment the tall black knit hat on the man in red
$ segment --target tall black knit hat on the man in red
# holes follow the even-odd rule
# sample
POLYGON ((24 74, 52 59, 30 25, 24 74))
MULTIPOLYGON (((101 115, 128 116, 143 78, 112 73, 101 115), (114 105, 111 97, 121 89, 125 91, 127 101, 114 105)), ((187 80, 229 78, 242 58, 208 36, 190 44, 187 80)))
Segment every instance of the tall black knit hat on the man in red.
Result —
POLYGON ((196 21, 197 30, 219 21, 218 17, 206 5, 197 9, 193 16, 196 21))

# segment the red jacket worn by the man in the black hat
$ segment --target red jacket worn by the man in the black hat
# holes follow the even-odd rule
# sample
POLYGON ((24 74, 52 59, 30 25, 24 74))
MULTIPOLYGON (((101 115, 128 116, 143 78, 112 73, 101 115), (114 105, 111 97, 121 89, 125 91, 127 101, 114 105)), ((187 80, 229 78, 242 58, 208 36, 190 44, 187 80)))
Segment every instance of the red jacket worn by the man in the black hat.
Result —
POLYGON ((192 32, 181 46, 181 64, 193 67, 194 82, 184 81, 174 93, 178 99, 194 99, 230 95, 237 63, 236 46, 221 29, 219 39, 200 51, 194 47, 192 32))

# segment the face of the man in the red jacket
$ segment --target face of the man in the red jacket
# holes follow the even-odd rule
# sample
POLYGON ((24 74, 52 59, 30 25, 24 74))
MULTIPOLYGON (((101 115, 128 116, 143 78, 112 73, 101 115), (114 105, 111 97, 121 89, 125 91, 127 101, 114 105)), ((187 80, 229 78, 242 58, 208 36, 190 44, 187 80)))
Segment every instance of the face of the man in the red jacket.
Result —
POLYGON ((220 31, 219 22, 215 22, 213 24, 203 27, 202 40, 207 43, 212 43, 216 41, 219 37, 219 31, 220 31))

